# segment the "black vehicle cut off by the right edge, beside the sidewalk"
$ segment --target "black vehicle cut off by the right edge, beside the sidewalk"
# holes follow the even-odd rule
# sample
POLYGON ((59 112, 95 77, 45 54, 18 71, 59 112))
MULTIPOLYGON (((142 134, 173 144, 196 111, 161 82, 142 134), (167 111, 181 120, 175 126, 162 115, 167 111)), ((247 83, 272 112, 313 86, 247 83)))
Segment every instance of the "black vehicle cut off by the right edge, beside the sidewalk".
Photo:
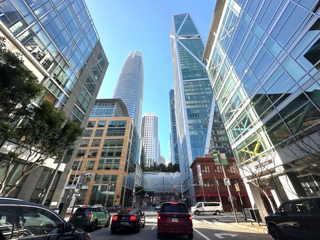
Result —
POLYGON ((269 233, 275 240, 319 239, 320 197, 284 201, 265 220, 269 233))

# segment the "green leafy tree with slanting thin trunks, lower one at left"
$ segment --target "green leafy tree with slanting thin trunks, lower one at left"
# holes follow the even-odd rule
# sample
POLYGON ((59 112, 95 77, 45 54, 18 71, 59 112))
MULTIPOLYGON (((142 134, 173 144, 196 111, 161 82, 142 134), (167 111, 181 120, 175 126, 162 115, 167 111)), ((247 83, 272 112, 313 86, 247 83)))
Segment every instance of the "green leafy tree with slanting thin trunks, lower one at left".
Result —
POLYGON ((1 183, 0 196, 6 186, 9 170, 13 164, 25 156, 22 169, 13 186, 3 196, 8 196, 24 176, 42 166, 48 158, 62 154, 64 150, 74 147, 75 141, 83 135, 84 129, 78 123, 67 120, 67 116, 52 103, 43 101, 32 109, 32 118, 21 127, 17 147, 6 154, 7 160, 4 180, 1 183), (21 157, 22 158, 22 157, 21 157))

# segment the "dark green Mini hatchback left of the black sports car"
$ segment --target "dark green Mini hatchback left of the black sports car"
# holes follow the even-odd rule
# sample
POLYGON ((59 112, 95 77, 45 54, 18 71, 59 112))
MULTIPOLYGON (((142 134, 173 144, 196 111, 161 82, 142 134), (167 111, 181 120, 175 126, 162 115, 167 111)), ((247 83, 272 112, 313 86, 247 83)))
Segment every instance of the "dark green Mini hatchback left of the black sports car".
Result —
POLYGON ((70 215, 69 222, 76 228, 88 228, 94 231, 97 227, 109 227, 111 216, 104 207, 82 206, 70 215))

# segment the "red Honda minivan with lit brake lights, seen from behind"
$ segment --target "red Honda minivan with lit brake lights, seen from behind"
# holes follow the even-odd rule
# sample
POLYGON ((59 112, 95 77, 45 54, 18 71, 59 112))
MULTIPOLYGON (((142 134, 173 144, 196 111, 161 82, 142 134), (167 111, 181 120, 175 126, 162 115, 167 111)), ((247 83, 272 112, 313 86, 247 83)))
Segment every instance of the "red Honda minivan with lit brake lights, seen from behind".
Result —
POLYGON ((193 238, 192 218, 184 203, 164 203, 158 211, 157 237, 163 233, 179 233, 193 238))

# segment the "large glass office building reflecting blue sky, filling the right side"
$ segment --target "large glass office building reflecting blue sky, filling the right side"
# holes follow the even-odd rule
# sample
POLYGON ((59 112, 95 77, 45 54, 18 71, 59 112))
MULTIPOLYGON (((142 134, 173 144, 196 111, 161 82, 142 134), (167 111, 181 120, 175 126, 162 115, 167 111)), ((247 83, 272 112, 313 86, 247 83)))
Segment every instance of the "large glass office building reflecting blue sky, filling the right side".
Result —
MULTIPOLYGON (((276 205, 320 196, 319 167, 310 161, 318 147, 292 148, 308 137, 320 142, 319 7, 316 0, 218 0, 204 51, 235 156, 276 166, 276 205)), ((260 194, 246 187, 262 210, 260 194)))

